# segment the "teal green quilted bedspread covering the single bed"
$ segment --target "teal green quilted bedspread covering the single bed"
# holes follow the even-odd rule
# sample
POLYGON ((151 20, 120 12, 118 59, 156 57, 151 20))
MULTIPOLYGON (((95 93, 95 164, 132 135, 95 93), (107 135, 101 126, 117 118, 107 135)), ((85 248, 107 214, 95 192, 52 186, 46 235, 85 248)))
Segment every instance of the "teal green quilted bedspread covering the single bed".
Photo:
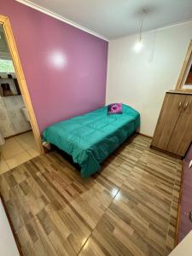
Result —
POLYGON ((89 177, 140 125, 140 114, 123 105, 123 113, 108 115, 108 107, 50 125, 43 141, 72 155, 81 166, 81 176, 89 177))

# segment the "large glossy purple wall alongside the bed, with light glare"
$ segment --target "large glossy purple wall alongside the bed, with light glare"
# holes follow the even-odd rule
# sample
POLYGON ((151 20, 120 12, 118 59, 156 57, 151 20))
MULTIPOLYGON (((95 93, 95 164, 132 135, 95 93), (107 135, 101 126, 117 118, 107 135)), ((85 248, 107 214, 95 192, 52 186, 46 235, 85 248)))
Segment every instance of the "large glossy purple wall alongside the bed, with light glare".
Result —
POLYGON ((108 42, 14 0, 0 0, 9 16, 38 126, 105 104, 108 42))

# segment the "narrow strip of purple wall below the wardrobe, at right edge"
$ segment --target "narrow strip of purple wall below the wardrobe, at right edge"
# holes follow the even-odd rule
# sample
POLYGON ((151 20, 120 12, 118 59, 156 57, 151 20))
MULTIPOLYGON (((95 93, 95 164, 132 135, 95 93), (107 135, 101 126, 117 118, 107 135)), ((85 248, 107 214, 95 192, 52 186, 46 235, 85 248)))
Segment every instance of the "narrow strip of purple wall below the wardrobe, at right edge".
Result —
POLYGON ((183 184, 182 198, 180 209, 180 223, 178 230, 178 242, 182 241, 190 230, 192 230, 192 222, 189 220, 188 213, 192 211, 192 168, 189 170, 189 162, 192 160, 192 145, 183 160, 183 184))

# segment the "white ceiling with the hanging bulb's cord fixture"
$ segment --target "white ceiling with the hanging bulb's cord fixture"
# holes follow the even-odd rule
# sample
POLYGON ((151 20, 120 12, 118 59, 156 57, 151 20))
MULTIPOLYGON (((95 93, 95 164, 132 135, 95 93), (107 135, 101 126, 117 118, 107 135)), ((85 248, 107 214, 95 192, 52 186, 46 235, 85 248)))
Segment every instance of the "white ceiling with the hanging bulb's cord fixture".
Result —
MULTIPOLYGON (((16 1, 29 3, 27 0, 16 1)), ((143 8, 148 9, 143 22, 143 31, 183 20, 192 20, 192 0, 30 0, 30 2, 109 39, 138 32, 143 8)))

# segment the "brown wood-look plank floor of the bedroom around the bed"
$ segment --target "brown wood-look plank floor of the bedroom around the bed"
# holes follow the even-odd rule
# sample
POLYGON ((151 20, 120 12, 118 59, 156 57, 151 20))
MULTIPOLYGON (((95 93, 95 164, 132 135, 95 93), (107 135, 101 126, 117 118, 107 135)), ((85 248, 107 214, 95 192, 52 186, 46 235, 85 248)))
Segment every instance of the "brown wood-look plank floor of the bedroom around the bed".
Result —
POLYGON ((182 161, 131 137, 81 178, 56 153, 0 176, 23 255, 168 255, 174 247, 182 161))

